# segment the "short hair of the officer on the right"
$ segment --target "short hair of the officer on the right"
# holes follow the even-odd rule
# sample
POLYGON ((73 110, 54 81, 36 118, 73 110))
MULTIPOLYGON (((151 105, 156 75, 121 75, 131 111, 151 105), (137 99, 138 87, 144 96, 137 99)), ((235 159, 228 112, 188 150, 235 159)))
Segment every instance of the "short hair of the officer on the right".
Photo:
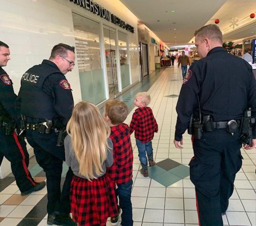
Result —
POLYGON ((221 29, 215 24, 208 24, 195 31, 195 36, 201 39, 209 38, 210 40, 216 40, 222 44, 222 32, 221 29))

